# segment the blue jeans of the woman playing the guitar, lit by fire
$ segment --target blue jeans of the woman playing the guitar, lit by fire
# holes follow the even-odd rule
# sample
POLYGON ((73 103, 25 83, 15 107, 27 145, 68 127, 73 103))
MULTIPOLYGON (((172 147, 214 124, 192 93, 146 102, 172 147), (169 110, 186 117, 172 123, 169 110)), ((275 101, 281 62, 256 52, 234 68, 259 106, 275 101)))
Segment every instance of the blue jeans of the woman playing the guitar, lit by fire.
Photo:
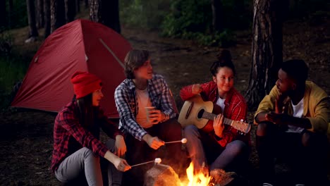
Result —
MULTIPOLYGON (((190 159, 193 161, 195 171, 204 166, 209 166, 212 171, 221 168, 227 171, 228 166, 236 164, 234 161, 247 161, 249 148, 245 142, 234 140, 221 147, 213 137, 196 128, 195 125, 185 127, 187 149, 190 159)), ((235 168, 233 168, 235 170, 235 168)))

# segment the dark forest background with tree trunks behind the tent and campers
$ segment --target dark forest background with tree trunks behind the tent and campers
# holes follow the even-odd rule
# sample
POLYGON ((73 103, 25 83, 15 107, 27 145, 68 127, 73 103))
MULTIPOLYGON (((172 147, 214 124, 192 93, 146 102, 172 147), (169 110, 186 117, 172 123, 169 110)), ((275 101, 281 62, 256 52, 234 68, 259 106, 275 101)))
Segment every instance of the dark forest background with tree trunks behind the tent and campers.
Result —
MULTIPOLYGON (((305 60, 309 80, 330 94, 327 0, 0 0, 0 185, 61 185, 49 171, 54 113, 10 104, 44 39, 78 18, 111 27, 134 48, 149 50, 179 110, 181 87, 209 81, 209 66, 222 49, 232 53, 235 87, 250 106, 249 121, 282 61, 305 60), (265 74, 268 69, 273 73, 265 74)), ((255 185, 253 145, 250 162, 247 182, 255 185)), ((290 180, 288 171, 285 164, 276 166, 283 182, 290 180)))

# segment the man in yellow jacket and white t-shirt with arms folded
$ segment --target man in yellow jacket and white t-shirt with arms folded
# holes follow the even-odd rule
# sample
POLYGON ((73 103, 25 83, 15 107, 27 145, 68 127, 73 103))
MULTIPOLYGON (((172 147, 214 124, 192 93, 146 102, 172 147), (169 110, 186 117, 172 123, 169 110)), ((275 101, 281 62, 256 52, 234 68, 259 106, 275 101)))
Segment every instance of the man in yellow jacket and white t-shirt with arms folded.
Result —
MULTIPOLYGON (((306 81, 302 60, 282 63, 279 79, 255 113, 256 147, 262 185, 274 185, 274 158, 292 164, 293 180, 301 185, 326 185, 326 133, 329 97, 306 81)), ((298 184, 297 184, 298 185, 298 184)))

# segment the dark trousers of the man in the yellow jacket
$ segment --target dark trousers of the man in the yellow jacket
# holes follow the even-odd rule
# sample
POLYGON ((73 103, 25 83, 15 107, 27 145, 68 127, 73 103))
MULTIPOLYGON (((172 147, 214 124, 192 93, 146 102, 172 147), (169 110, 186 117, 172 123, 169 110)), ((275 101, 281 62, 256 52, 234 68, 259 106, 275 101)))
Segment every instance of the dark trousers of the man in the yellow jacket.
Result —
POLYGON ((327 180, 326 135, 307 130, 285 132, 273 123, 259 123, 256 147, 264 181, 274 181, 274 158, 283 159, 293 168, 296 182, 323 185, 327 180))

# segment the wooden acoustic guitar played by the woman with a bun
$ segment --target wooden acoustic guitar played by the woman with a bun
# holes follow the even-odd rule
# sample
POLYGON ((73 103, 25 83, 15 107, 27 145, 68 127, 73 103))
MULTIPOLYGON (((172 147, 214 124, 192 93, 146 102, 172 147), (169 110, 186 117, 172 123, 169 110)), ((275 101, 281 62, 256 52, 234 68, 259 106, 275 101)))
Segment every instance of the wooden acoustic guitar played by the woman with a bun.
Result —
MULTIPOLYGON (((200 95, 195 95, 183 104, 178 122, 183 128, 187 125, 195 125, 204 132, 212 132, 214 117, 219 113, 221 113, 220 106, 213 104, 212 101, 203 101, 200 95)), ((231 125, 242 135, 251 130, 251 125, 243 122, 243 120, 224 118, 224 124, 231 125)))

